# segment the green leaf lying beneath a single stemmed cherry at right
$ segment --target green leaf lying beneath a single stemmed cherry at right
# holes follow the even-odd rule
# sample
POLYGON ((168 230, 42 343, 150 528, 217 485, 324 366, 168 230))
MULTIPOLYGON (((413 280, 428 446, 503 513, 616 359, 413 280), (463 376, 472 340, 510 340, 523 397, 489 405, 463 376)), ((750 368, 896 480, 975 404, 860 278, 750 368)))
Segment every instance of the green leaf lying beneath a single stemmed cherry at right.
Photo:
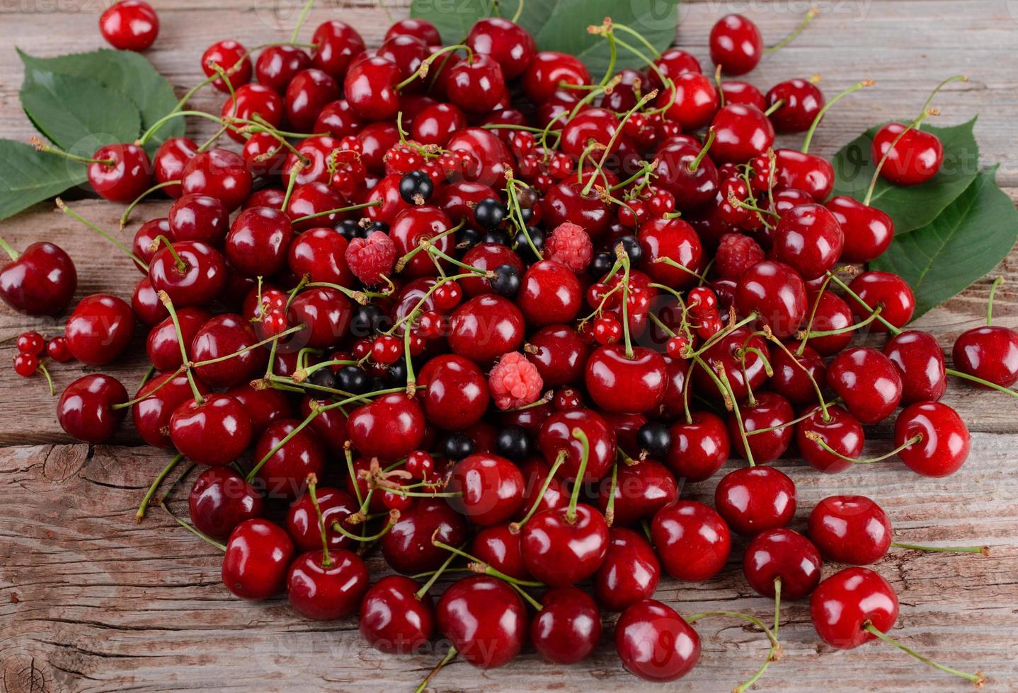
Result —
MULTIPOLYGON (((876 181, 870 204, 891 215, 895 234, 907 234, 932 222, 975 180, 979 171, 979 145, 972 134, 975 120, 952 127, 922 126, 944 144, 944 166, 929 181, 909 187, 891 185, 883 178, 876 181)), ((835 195, 865 198, 876 170, 871 145, 881 127, 870 128, 835 154, 835 195)))

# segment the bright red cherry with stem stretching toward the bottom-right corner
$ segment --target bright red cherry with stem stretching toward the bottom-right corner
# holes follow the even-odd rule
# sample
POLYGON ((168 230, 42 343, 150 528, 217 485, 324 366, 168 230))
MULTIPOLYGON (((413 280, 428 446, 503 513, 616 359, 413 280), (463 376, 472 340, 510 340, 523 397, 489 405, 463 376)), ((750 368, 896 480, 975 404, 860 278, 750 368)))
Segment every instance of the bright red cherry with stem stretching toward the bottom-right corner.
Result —
POLYGON ((891 584, 868 568, 845 568, 823 580, 809 598, 809 618, 821 639, 839 649, 869 642, 863 630, 871 623, 886 633, 898 620, 898 595, 891 584))

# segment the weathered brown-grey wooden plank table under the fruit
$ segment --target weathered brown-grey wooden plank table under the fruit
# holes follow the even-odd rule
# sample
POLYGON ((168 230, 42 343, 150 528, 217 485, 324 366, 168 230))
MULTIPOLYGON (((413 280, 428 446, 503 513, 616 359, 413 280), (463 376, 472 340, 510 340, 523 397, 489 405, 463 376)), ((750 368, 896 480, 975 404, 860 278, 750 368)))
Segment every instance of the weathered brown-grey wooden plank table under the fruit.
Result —
MULTIPOLYGON (((45 56, 97 48, 102 40, 96 19, 104 4, 0 4, 0 136, 25 139, 34 134, 17 102, 20 64, 12 46, 45 56)), ((284 41, 302 2, 153 4, 162 29, 148 55, 182 93, 201 79, 199 57, 208 45, 224 38, 248 46, 284 41)), ((356 26, 369 45, 378 45, 388 26, 386 11, 366 0, 323 0, 320 5, 305 36, 319 21, 340 17, 356 26)), ((765 37, 775 41, 797 23, 809 3, 685 3, 679 43, 704 64, 710 27, 729 5, 750 14, 765 37)), ((833 109, 819 128, 814 151, 831 154, 873 123, 909 117, 937 82, 963 72, 969 81, 952 85, 937 100, 940 121, 957 123, 980 114, 976 134, 983 161, 1002 163, 998 178, 1018 197, 1018 2, 841 0, 819 5, 813 25, 749 76, 766 88, 780 79, 819 73, 829 94, 862 78, 878 81, 833 109)), ((218 113, 219 102, 220 94, 207 90, 193 105, 218 113)), ((195 123, 192 132, 208 129, 195 123)), ((159 215, 165 206, 146 205, 135 213, 135 224, 159 215)), ((107 229, 116 228, 116 205, 80 202, 76 208, 107 229)), ((52 205, 41 204, 3 222, 0 229, 15 247, 49 238, 67 249, 79 271, 78 298, 99 291, 129 298, 137 278, 129 262, 52 205)), ((122 237, 129 238, 133 229, 122 237)), ((1018 279, 1018 253, 1004 264, 998 273, 1018 279)), ((918 326, 949 346, 983 319, 988 287, 988 278, 977 282, 918 326)), ((1018 325, 1018 301, 1010 287, 998 295, 996 315, 1002 324, 1018 325)), ((7 310, 0 315, 0 335, 25 328, 53 334, 60 323, 7 310)), ((136 342, 133 353, 140 354, 140 330, 136 342)), ((13 355, 6 344, 0 361, 9 363, 13 355)), ((132 390, 144 368, 135 356, 109 370, 132 390)), ((58 387, 81 370, 56 366, 58 387)), ((314 623, 296 618, 285 600, 249 604, 231 596, 220 583, 215 550, 158 509, 144 523, 134 523, 134 509, 168 453, 139 446, 129 426, 110 445, 68 440, 44 385, 41 378, 23 380, 10 368, 0 370, 0 444, 6 446, 0 450, 0 671, 5 691, 411 690, 436 663, 434 653, 397 657, 377 652, 363 643, 352 620, 314 623)), ((836 477, 821 476, 798 459, 781 460, 778 466, 798 486, 795 527, 801 528, 818 499, 863 493, 889 511, 898 541, 991 545, 989 558, 893 550, 875 568, 901 597, 895 636, 962 670, 983 671, 997 690, 1013 690, 1018 677, 1018 402, 955 382, 945 401, 958 408, 972 432, 972 453, 949 479, 921 479, 897 461, 836 477)), ((889 427, 879 427, 867 450, 886 450, 888 438, 889 427)), ((714 484, 693 485, 684 495, 711 499, 714 484)), ((184 511, 182 498, 178 489, 172 507, 184 511)), ((737 543, 726 570, 703 584, 663 580, 658 598, 684 614, 738 609, 767 618, 771 604, 746 586, 741 551, 742 543, 737 543)), ((371 563, 373 570, 383 569, 381 559, 371 563)), ((825 572, 834 569, 827 566, 825 572)), ((740 622, 706 620, 697 629, 703 639, 699 666, 669 689, 729 690, 765 656, 765 638, 740 622)), ((434 689, 654 689, 622 669, 611 631, 607 623, 601 647, 581 665, 551 665, 532 652, 489 673, 454 662, 436 678, 434 689)), ((817 640, 804 604, 784 608, 781 638, 785 656, 760 688, 957 690, 964 683, 876 643, 835 651, 817 640)))

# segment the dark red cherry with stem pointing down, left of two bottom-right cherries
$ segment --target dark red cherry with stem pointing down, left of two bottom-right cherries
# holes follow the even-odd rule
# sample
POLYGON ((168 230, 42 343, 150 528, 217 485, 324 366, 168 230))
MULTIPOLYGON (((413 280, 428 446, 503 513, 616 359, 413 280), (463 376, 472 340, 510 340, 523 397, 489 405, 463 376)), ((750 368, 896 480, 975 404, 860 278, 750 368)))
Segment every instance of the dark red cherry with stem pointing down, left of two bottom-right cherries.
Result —
POLYGON ((781 582, 781 598, 792 602, 807 596, 821 581, 821 554, 812 542, 797 531, 768 529, 753 537, 742 557, 746 582, 761 596, 775 595, 781 582))

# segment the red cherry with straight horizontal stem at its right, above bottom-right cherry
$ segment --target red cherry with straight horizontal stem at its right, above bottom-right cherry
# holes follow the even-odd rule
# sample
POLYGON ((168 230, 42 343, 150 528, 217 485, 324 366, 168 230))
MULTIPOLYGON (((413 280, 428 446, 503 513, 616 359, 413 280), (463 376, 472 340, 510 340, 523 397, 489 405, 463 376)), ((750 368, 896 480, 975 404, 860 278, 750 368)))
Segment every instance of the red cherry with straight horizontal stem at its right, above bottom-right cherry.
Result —
POLYGON ((828 561, 869 565, 891 548, 891 519, 865 496, 829 496, 809 513, 809 539, 828 561))

